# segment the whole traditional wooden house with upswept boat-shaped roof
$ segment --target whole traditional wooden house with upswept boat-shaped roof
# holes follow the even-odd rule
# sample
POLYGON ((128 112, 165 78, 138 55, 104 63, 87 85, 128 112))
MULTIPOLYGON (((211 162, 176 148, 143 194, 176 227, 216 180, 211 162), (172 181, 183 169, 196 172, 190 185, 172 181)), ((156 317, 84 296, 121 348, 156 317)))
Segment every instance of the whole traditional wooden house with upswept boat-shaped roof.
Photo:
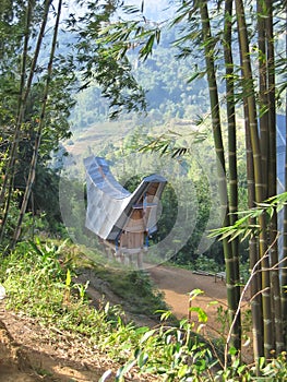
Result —
POLYGON ((112 176, 107 162, 91 156, 86 169, 86 227, 112 249, 121 261, 136 259, 143 266, 148 237, 157 230, 158 202, 167 180, 151 175, 134 192, 125 190, 112 176))

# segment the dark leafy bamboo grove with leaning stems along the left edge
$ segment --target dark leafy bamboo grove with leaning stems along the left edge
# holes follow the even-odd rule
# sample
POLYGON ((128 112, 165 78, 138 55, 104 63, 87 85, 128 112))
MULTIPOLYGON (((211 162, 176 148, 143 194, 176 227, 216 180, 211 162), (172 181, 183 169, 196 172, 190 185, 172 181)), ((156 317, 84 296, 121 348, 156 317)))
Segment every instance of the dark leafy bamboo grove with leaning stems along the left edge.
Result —
POLYGON ((49 153, 70 136, 68 117, 74 102, 69 91, 74 80, 59 57, 55 64, 61 13, 61 0, 57 9, 51 1, 33 0, 4 1, 0 8, 0 241, 7 250, 20 239, 38 163, 40 175, 49 153))

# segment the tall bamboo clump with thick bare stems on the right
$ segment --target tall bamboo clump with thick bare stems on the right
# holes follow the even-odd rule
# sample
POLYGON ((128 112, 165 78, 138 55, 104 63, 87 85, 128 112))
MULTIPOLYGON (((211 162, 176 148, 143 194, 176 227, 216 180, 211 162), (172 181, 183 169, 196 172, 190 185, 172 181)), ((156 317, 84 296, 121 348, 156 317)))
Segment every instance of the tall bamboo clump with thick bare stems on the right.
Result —
MULTIPOLYGON (((144 61, 160 41, 165 27, 177 28, 172 45, 179 49, 179 64, 180 59, 194 57, 195 73, 190 73, 190 81, 202 75, 207 79, 224 226, 234 226, 238 218, 238 116, 244 120, 249 207, 256 207, 277 192, 276 114, 286 104, 286 2, 177 1, 172 15, 162 23, 144 16, 144 1, 141 10, 124 10, 129 14, 125 21, 121 17, 101 28, 100 41, 115 57, 120 60, 131 47, 136 47, 144 61), (223 82, 224 96, 218 91, 223 82)), ((266 213, 251 216, 249 227, 259 227, 258 235, 249 236, 254 359, 270 359, 287 347, 286 219, 280 254, 276 213, 271 219, 266 213)), ((240 350, 240 314, 235 313, 240 301, 238 237, 232 241, 225 237, 223 241, 232 322, 228 346, 240 350)))

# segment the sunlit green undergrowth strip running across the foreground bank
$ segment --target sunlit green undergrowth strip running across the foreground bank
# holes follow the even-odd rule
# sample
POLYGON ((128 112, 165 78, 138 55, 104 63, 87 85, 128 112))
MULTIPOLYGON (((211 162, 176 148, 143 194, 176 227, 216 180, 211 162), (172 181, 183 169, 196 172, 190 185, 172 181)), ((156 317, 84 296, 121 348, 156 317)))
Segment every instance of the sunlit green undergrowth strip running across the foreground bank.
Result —
MULTIPOLYGON (((160 323, 153 329, 127 322, 119 306, 112 307, 101 300, 95 308, 86 294, 88 282, 76 283, 76 271, 85 262, 67 242, 20 243, 11 255, 2 259, 0 268, 0 283, 8 294, 7 308, 31 315, 45 326, 57 325, 58 330, 83 335, 83 341, 122 365, 117 381, 124 381, 124 375, 133 368, 142 374, 157 375, 158 381, 285 381, 286 354, 267 367, 262 359, 262 378, 258 379, 253 366, 242 365, 232 349, 224 365, 220 349, 208 343, 192 322, 181 320, 170 324, 171 313, 160 309, 163 303, 158 305, 160 323)), ((88 261, 86 263, 88 265, 88 261)), ((103 270, 98 273, 105 274, 103 270)), ((112 276, 106 271, 105 277, 112 276)), ((128 290, 141 290, 143 297, 153 294, 145 274, 130 272, 116 278, 118 289, 127 290, 130 285, 128 290)), ((154 301, 158 302, 159 297, 154 293, 154 301)), ((206 320, 207 315, 199 310, 200 327, 206 320)), ((108 377, 109 370, 100 382, 108 377)))

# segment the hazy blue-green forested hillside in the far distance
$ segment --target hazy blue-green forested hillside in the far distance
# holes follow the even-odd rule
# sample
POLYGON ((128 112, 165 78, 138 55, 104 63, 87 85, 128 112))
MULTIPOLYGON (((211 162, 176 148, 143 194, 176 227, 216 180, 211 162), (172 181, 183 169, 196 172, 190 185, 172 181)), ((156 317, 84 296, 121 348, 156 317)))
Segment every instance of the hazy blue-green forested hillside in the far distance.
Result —
MULTIPOLYGON (((140 62, 134 53, 130 61, 139 83, 146 91, 147 115, 123 116, 133 124, 162 124, 171 118, 194 119, 208 110, 205 79, 189 82, 194 73, 191 59, 177 60, 177 48, 170 47, 175 33, 166 31, 159 46, 145 61, 140 62)), ((101 97, 99 86, 94 83, 76 95, 77 105, 71 115, 74 131, 86 129, 108 119, 108 102, 101 97)))

